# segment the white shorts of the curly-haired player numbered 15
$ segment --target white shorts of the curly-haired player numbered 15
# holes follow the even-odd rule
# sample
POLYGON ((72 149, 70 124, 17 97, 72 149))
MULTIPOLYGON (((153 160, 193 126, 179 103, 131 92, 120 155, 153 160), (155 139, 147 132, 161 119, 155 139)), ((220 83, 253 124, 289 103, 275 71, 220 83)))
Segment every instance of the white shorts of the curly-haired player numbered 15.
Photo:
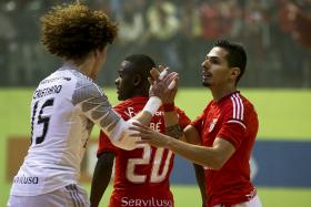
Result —
POLYGON ((89 207, 87 192, 79 185, 71 184, 54 192, 38 196, 11 195, 8 207, 89 207))

